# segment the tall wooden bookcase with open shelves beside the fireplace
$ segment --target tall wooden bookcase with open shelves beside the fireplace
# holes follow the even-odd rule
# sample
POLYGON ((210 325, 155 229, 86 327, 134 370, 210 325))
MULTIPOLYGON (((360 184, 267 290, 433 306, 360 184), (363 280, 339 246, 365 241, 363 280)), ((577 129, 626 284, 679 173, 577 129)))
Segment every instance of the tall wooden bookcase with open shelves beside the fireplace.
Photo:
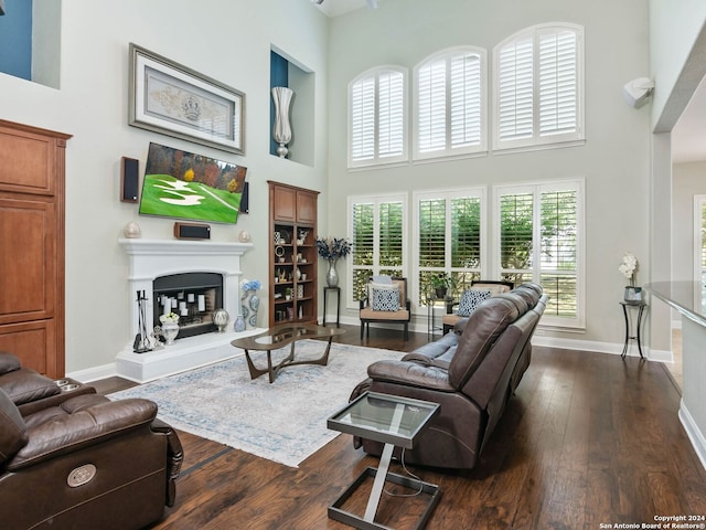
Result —
POLYGON ((319 192, 269 182, 269 326, 318 318, 319 192))

